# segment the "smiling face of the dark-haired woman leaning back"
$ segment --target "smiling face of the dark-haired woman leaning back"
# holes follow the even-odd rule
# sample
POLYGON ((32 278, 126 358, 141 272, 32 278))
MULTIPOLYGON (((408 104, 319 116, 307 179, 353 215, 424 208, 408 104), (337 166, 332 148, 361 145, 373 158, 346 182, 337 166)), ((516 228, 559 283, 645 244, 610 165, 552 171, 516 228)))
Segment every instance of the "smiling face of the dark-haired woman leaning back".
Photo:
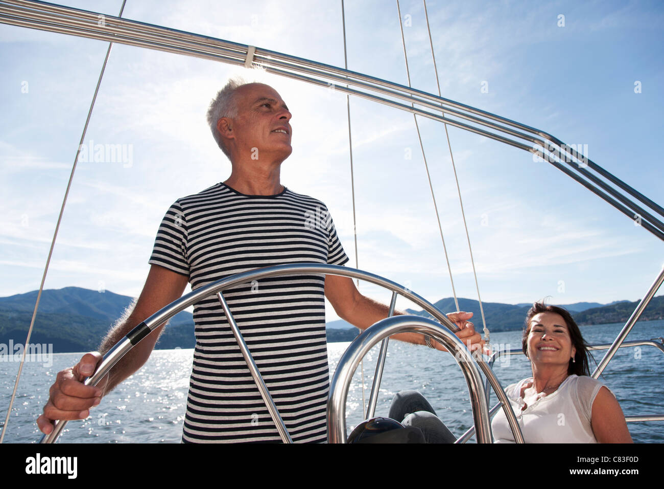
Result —
POLYGON ((570 332, 560 314, 539 313, 529 324, 528 357, 536 365, 568 365, 576 354, 570 332))

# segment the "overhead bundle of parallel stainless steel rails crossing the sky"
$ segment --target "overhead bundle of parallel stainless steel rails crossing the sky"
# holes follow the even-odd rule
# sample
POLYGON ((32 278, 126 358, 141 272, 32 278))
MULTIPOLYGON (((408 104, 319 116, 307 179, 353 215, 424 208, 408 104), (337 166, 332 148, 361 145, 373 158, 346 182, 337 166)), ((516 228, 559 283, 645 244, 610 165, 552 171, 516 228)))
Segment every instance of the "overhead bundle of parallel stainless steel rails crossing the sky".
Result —
POLYGON ((641 227, 664 240, 664 222, 660 220, 664 217, 664 209, 661 206, 551 134, 485 110, 369 75, 268 49, 256 49, 222 39, 52 3, 27 0, 0 1, 0 23, 112 41, 231 65, 244 66, 256 63, 276 75, 327 88, 332 87, 339 92, 446 122, 457 128, 537 154, 625 216, 630 219, 639 218, 641 227), (595 174, 586 170, 586 167, 595 174), (614 186, 651 208, 660 217, 647 212, 614 186))

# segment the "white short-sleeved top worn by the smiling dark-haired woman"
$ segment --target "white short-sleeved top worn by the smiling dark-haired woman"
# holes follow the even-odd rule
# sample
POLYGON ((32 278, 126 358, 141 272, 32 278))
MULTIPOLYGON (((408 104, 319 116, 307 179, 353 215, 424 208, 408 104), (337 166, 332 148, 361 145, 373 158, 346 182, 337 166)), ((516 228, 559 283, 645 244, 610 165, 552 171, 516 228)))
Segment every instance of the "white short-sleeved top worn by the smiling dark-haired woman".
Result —
MULTIPOLYGON (((517 415, 523 439, 526 443, 597 443, 592 432, 590 418, 592 403, 604 384, 582 375, 570 375, 549 395, 521 397, 521 389, 533 378, 509 385, 505 394, 517 415), (523 405, 525 410, 521 410, 523 405)), ((491 422, 495 443, 514 443, 512 430, 503 410, 496 413, 491 422)))

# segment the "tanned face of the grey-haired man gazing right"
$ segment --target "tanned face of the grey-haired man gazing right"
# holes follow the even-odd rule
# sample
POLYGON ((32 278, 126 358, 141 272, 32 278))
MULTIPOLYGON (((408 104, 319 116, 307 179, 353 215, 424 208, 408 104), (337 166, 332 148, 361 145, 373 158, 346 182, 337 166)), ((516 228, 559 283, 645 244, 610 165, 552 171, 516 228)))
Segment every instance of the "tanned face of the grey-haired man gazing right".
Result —
POLYGON ((250 83, 235 92, 238 116, 230 121, 226 136, 234 139, 241 152, 250 152, 252 159, 290 156, 291 113, 281 96, 271 86, 250 83))

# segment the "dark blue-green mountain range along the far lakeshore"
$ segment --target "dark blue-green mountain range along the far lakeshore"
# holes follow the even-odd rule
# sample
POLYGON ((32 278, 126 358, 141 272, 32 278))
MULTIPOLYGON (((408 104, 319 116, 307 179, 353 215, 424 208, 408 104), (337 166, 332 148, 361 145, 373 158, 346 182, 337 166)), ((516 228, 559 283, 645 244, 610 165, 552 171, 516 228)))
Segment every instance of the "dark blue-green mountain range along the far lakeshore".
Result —
MULTIPOLYGON (((23 343, 30 325, 37 291, 0 297, 0 343, 12 339, 23 343)), ((481 329, 479 303, 459 298, 459 309, 473 313, 473 322, 481 329)), ((39 312, 31 336, 31 343, 52 343, 55 353, 92 351, 133 301, 132 297, 110 291, 94 291, 80 287, 42 291, 39 312)), ((434 304, 445 312, 456 311, 454 299, 440 299, 434 304)), ((483 302, 485 319, 491 331, 521 329, 530 304, 483 302)), ((607 305, 579 302, 562 305, 582 324, 617 323, 626 321, 637 302, 616 301, 607 305)), ((424 311, 406 309, 409 314, 428 316, 424 311)), ((663 319, 664 296, 654 297, 643 312, 641 320, 663 319)), ((327 341, 350 341, 357 328, 346 321, 327 323, 327 341)), ((159 338, 157 349, 193 348, 195 346, 193 315, 182 311, 171 319, 159 338)))

